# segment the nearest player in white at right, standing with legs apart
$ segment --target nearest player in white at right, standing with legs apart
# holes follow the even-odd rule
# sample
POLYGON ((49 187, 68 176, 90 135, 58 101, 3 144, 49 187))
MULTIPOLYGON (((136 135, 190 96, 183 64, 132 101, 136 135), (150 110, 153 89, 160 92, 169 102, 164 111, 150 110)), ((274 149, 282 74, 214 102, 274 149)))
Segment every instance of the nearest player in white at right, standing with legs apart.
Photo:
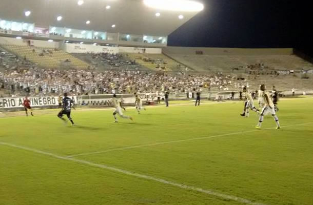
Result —
POLYGON ((266 89, 265 85, 262 84, 260 86, 260 90, 261 90, 261 100, 262 100, 261 104, 263 104, 263 108, 260 114, 259 124, 256 126, 256 128, 261 129, 264 115, 270 113, 276 121, 276 125, 277 125, 276 129, 280 129, 280 124, 279 124, 279 120, 275 112, 274 104, 272 100, 270 99, 269 94, 265 92, 265 89, 266 89))

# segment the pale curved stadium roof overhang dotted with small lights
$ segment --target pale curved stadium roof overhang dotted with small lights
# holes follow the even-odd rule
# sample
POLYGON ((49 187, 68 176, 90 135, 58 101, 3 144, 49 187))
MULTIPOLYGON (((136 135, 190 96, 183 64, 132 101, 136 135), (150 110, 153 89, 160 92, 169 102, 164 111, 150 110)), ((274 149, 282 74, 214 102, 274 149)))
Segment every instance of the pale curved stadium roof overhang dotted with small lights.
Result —
POLYGON ((198 4, 193 11, 186 11, 192 10, 188 3, 187 0, 1 0, 0 18, 40 26, 167 36, 202 10, 198 4), (25 15, 27 11, 31 12, 29 16, 25 15), (62 20, 58 21, 58 16, 62 20))

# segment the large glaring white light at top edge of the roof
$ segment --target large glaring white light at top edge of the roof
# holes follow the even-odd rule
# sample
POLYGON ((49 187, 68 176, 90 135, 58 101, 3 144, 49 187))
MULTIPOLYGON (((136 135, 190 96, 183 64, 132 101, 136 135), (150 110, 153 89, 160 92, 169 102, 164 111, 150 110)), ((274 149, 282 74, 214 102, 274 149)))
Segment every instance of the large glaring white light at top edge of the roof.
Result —
POLYGON ((203 4, 189 0, 144 0, 147 7, 169 11, 202 11, 203 4))

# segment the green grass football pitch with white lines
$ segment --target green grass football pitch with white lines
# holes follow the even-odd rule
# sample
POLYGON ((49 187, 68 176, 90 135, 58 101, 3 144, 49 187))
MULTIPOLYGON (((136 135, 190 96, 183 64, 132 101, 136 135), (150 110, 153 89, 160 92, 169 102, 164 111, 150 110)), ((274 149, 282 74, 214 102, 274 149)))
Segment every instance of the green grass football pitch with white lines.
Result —
POLYGON ((311 205, 312 105, 281 100, 281 130, 242 102, 0 118, 0 204, 311 205))

